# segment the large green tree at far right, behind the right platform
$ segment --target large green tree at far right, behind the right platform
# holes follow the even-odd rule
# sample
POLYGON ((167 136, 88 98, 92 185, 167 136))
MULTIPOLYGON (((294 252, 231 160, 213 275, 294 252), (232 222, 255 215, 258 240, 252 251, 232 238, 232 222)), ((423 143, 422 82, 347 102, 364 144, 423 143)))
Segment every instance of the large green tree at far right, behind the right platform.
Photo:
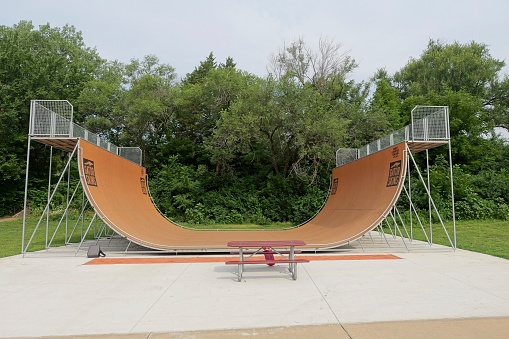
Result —
MULTIPOLYGON (((411 59, 393 77, 400 89, 403 112, 415 105, 445 105, 450 111, 457 217, 505 218, 507 211, 506 155, 509 149, 493 134, 507 128, 508 78, 503 61, 485 44, 444 44, 431 40, 420 58, 411 59)), ((408 116, 407 116, 408 119, 408 116)), ((432 150, 432 171, 444 180, 432 183, 439 204, 448 204, 444 182, 448 168, 432 150)))

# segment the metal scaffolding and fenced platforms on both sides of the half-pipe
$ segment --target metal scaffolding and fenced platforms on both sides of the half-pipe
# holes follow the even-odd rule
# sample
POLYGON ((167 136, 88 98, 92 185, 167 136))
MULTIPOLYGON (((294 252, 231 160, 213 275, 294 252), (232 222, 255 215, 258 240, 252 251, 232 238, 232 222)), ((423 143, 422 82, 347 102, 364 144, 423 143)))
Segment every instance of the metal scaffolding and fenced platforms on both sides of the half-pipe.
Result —
MULTIPOLYGON (((387 217, 380 222, 376 227, 381 232, 382 236, 385 239, 385 242, 389 245, 389 240, 387 239, 384 233, 384 224, 387 227, 388 232, 392 235, 394 239, 400 237, 403 241, 403 244, 407 250, 412 240, 414 239, 414 223, 417 222, 418 225, 416 229, 421 230, 424 233, 424 237, 428 244, 431 246, 433 244, 434 239, 434 230, 433 230, 433 218, 438 219, 443 231, 446 234, 446 237, 453 249, 456 249, 456 220, 455 220, 455 211, 454 211, 454 185, 453 185, 453 166, 452 166, 452 155, 451 155, 451 143, 450 143, 450 135, 449 135, 449 112, 448 108, 444 106, 417 106, 412 110, 412 118, 411 124, 405 126, 404 128, 391 133, 390 135, 383 137, 379 140, 375 140, 368 145, 365 145, 359 149, 342 149, 336 152, 336 164, 337 166, 342 166, 351 161, 355 161, 364 156, 368 156, 380 150, 389 148, 397 143, 405 142, 408 156, 406 157, 407 161, 407 172, 405 174, 405 180, 407 183, 403 185, 403 192, 405 193, 408 199, 408 206, 403 209, 399 208, 398 205, 392 207, 391 211, 387 215, 387 217), (430 178, 430 162, 429 162, 429 152, 428 150, 434 147, 438 147, 441 145, 448 145, 448 153, 449 153, 449 175, 450 175, 450 187, 451 187, 451 206, 452 206, 452 236, 449 234, 443 218, 432 198, 431 193, 431 178, 430 178), (425 152, 422 152, 425 151, 425 152), (414 158, 414 154, 420 153, 426 156, 425 165, 425 174, 421 172, 417 161, 414 158), (415 190, 416 182, 419 181, 422 187, 426 192, 426 199, 428 200, 428 216, 429 219, 429 230, 426 230, 424 226, 426 223, 426 216, 419 214, 418 208, 416 204, 412 201, 412 195, 415 194, 413 192, 412 186, 415 190), (400 211, 403 211, 400 213, 400 211), (405 212, 408 211, 408 212, 405 212), (408 213, 405 215, 405 213, 408 213), (403 215, 402 215, 403 214, 403 215), (409 220, 406 220, 405 217, 408 216, 409 220), (407 222, 408 221, 408 222, 407 222), (407 228, 409 225, 409 229, 407 228), (408 239, 408 241, 405 240, 408 239), (408 244, 407 244, 408 243, 408 244)), ((62 228, 62 224, 65 219, 65 234, 63 235, 65 245, 71 243, 71 240, 74 237, 74 241, 78 238, 78 225, 81 224, 81 232, 78 240, 78 247, 76 253, 80 250, 83 243, 87 239, 87 237, 96 239, 97 241, 101 240, 101 237, 106 237, 108 240, 108 244, 111 244, 113 237, 115 236, 115 232, 113 231, 111 235, 107 232, 108 227, 104 221, 101 220, 101 217, 97 212, 94 213, 91 220, 90 214, 87 217, 87 211, 91 208, 89 202, 85 197, 85 192, 83 187, 81 187, 81 182, 78 180, 77 184, 71 185, 72 178, 72 169, 71 164, 75 158, 78 157, 79 150, 79 140, 88 140, 94 142, 99 147, 102 147, 109 152, 125 157, 126 159, 133 161, 137 164, 141 164, 141 150, 139 148, 122 148, 117 147, 108 141, 100 138, 98 135, 85 130, 84 128, 74 124, 73 122, 73 108, 72 105, 67 101, 62 100, 33 100, 31 102, 31 110, 30 110, 30 128, 29 128, 29 136, 28 136, 28 149, 27 149, 27 165, 26 165, 26 178, 25 178, 25 192, 24 192, 24 212, 23 212, 23 231, 22 231, 22 254, 25 254, 29 251, 30 246, 33 245, 33 241, 36 233, 39 231, 41 223, 43 219, 46 219, 45 226, 45 240, 44 240, 44 248, 48 250, 52 244, 54 244, 55 239, 57 238, 58 232, 64 232, 62 228), (30 152, 31 152, 31 141, 36 140, 38 142, 44 143, 50 146, 49 149, 49 173, 48 173, 48 194, 47 194, 47 204, 42 211, 41 217, 35 225, 34 229, 30 229, 31 234, 28 234, 29 231, 27 226, 27 211, 28 211, 28 196, 29 196, 29 169, 30 169, 30 152), (58 161, 55 161, 54 164, 54 148, 68 152, 68 158, 65 162, 65 166, 63 167, 61 173, 58 173, 59 178, 56 183, 52 183, 54 179, 54 166, 59 164, 58 161), (56 195, 56 192, 63 191, 62 186, 66 182, 66 193, 62 195, 62 200, 65 196, 65 208, 63 210, 63 214, 59 217, 59 221, 56 226, 52 226, 54 224, 51 223, 51 206, 52 201, 56 195), (71 187, 72 186, 72 187, 71 187), (74 188, 71 190, 71 188, 74 188), (79 204, 77 200, 79 200, 81 189, 81 210, 78 219, 76 220, 72 229, 70 229, 69 225, 69 209, 75 202, 74 206, 79 204), (99 217, 99 218, 98 218, 99 217), (96 232, 96 221, 101 220, 104 224, 101 225, 99 232, 96 232), (88 223, 85 225, 85 223, 88 223), (92 225, 94 225, 94 232, 89 232, 92 225), (54 229, 53 229, 54 227, 54 229), (26 237, 29 236, 29 240, 26 241, 26 237)), ((62 156, 62 161, 64 157, 62 156)), ((423 164, 422 162, 421 164, 423 164)), ((57 175, 55 175, 56 177, 57 175)), ((401 207, 401 206, 400 206, 401 207)), ((76 207, 75 207, 76 208, 76 207)), ((421 208, 424 208, 421 206, 421 208)), ((369 235, 371 237, 371 235, 369 235)), ((39 238, 38 238, 39 239, 39 238)), ((104 239, 103 239, 104 240, 104 239)), ((38 240, 39 241, 39 240, 38 240)), ((371 237, 371 241, 373 242, 373 238, 371 237)), ((42 243, 42 240, 40 240, 42 243)), ((362 239, 359 238, 359 244, 363 247, 362 239)), ((129 250, 131 246, 131 242, 127 243, 127 247, 125 251, 129 250)))

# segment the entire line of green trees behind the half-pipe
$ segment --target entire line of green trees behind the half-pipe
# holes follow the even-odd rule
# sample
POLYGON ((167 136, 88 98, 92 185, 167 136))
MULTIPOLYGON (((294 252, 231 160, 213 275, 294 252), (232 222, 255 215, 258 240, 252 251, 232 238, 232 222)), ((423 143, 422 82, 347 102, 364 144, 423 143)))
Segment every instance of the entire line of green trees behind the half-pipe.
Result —
MULTIPOLYGON (((297 39, 267 66, 260 77, 211 52, 179 77, 154 55, 105 60, 70 25, 0 26, 0 215, 23 206, 30 100, 65 99, 76 123, 140 147, 156 204, 190 223, 303 222, 327 196, 336 149, 408 124, 415 105, 449 106, 457 216, 509 218, 509 146, 493 132, 508 129, 509 79, 487 45, 430 40, 394 74, 381 65, 360 82, 356 61, 333 40, 313 48, 297 39)), ((37 208, 49 156, 32 147, 37 208)), ((431 152, 431 185, 447 207, 444 153, 431 152)))

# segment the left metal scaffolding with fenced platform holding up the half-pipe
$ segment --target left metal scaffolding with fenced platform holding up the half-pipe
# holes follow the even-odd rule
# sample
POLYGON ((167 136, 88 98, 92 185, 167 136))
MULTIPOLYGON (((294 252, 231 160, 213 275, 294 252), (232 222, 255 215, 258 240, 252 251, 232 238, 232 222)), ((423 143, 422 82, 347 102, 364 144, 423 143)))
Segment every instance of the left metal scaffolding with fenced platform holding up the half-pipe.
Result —
MULTIPOLYGON (((31 246, 34 245, 34 239, 36 237, 36 233, 41 232, 42 228, 45 229, 43 247, 48 250, 55 239, 57 238, 58 232, 63 233, 60 236, 63 236, 64 244, 69 245, 73 239, 76 239, 76 230, 78 225, 81 223, 81 231, 79 235, 79 243, 80 246, 87 237, 89 228, 85 230, 85 219, 87 208, 90 207, 88 201, 85 198, 85 192, 81 186, 81 182, 78 178, 78 182, 74 187, 74 190, 71 191, 71 181, 72 181, 72 162, 77 159, 77 155, 79 152, 79 139, 84 139, 94 144, 107 149, 109 152, 114 154, 118 154, 130 161, 133 161, 137 164, 141 164, 142 153, 141 149, 138 147, 117 147, 116 145, 111 144, 107 140, 99 137, 98 135, 85 130, 84 128, 76 125, 73 122, 73 106, 67 100, 32 100, 30 102, 30 124, 29 124, 29 132, 28 132, 28 144, 27 144, 27 162, 26 162, 26 174, 25 174, 25 192, 24 192, 24 208, 23 208, 23 230, 22 230, 22 239, 21 239, 21 253, 23 256, 29 251, 31 246), (28 210, 29 210, 29 173, 30 173, 30 156, 31 156, 31 148, 32 141, 38 141, 40 143, 46 144, 50 147, 49 149, 49 171, 48 171, 48 185, 47 185, 47 201, 44 210, 41 213, 40 219, 34 228, 29 227, 27 225, 28 218, 28 210), (58 173, 59 179, 56 183, 53 183, 54 179, 54 165, 57 163, 54 161, 54 151, 55 149, 59 149, 61 151, 67 152, 68 158, 66 159, 66 165, 62 169, 61 173, 58 173), (65 208, 62 212, 62 215, 59 217, 59 221, 56 226, 51 222, 52 219, 52 211, 51 206, 54 203, 53 200, 55 198, 56 192, 62 192, 65 188, 64 182, 66 181, 66 193, 62 194, 65 196, 65 208), (80 189, 82 193, 79 194, 80 189), (76 205, 76 200, 81 195, 81 211, 78 217, 78 220, 74 224, 72 230, 70 230, 69 225, 69 209, 71 208, 73 202, 76 205), (45 221, 45 227, 41 227, 43 219, 45 221), (62 224, 65 219, 65 230, 61 230, 62 224), (29 230, 30 228, 30 230, 29 230), (28 241, 27 241, 28 237, 28 241)), ((62 160, 64 160, 65 156, 62 156, 62 160)), ((60 211, 61 212, 61 211, 60 211)), ((96 219, 95 215, 93 219, 96 219)), ((90 227, 91 224, 89 224, 90 227)), ((102 228, 105 228, 103 225, 102 228)), ((113 233, 114 235, 114 233, 113 233)), ((113 237, 113 235, 111 237, 113 237)), ((42 235, 41 235, 42 237, 42 235)), ((94 234, 94 238, 96 235, 94 234)), ((37 237, 37 242, 40 243, 41 240, 37 237)), ((111 241, 111 240, 110 240, 111 241)), ((39 246, 39 245, 38 245, 39 246)))

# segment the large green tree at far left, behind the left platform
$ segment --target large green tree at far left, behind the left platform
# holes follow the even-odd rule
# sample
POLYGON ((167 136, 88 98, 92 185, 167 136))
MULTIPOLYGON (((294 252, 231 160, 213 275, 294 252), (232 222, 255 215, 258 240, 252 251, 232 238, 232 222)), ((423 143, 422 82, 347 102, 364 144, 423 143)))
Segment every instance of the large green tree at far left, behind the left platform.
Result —
MULTIPOLYGON (((73 26, 0 26, 0 215, 23 206, 30 100, 75 100, 103 60, 73 26)), ((34 145, 39 147, 39 145, 34 145)), ((48 155, 34 152, 33 182, 47 176, 48 155), (46 173, 45 173, 46 172, 46 173)))

